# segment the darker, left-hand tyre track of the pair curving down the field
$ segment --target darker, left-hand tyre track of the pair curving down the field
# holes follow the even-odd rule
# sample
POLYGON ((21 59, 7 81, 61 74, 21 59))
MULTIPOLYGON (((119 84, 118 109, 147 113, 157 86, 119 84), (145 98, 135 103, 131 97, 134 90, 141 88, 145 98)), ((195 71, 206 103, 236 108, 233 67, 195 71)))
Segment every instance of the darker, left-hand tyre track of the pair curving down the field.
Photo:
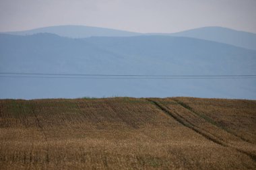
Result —
POLYGON ((160 103, 158 103, 158 101, 154 101, 154 99, 147 99, 147 100, 150 101, 151 103, 153 103, 154 105, 156 105, 156 107, 159 110, 162 110, 162 112, 164 112, 166 115, 174 118, 174 120, 177 120, 177 122, 183 124, 183 126, 190 128, 191 130, 197 132, 197 134, 201 134, 201 136, 203 136, 207 140, 215 142, 216 144, 220 144, 221 146, 224 146, 224 147, 229 147, 229 148, 235 149, 239 153, 243 153, 243 154, 247 155, 253 161, 256 162, 256 155, 249 153, 247 151, 243 151, 240 148, 236 148, 235 146, 230 146, 230 144, 224 142, 224 140, 222 140, 221 138, 210 135, 209 132, 203 132, 205 130, 202 130, 201 128, 195 126, 195 124, 189 122, 188 120, 183 118, 183 116, 180 116, 175 110, 172 110, 172 112, 170 112, 170 110, 168 110, 164 105, 161 105, 160 103))

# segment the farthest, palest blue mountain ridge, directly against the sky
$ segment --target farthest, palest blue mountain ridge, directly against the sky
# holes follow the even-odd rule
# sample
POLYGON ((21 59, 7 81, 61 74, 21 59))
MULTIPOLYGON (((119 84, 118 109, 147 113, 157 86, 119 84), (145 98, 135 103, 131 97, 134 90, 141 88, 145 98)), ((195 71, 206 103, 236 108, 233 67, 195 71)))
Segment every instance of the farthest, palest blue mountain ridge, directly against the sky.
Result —
POLYGON ((88 38, 92 36, 110 36, 110 37, 128 37, 128 36, 183 36, 189 38, 198 38, 201 40, 210 40, 214 42, 221 42, 256 50, 256 34, 249 32, 241 32, 222 27, 204 27, 187 30, 183 32, 161 34, 149 33, 141 34, 137 32, 127 32, 122 30, 114 30, 109 28, 97 28, 90 26, 52 26, 46 28, 37 28, 34 30, 27 30, 22 32, 5 32, 5 34, 13 35, 32 35, 38 33, 51 33, 68 38, 88 38))

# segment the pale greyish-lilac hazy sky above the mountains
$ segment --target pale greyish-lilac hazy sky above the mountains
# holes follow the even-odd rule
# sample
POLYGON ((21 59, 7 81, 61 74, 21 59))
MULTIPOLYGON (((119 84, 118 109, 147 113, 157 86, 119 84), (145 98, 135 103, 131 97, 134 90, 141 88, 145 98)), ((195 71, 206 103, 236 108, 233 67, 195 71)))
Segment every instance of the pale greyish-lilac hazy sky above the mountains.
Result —
POLYGON ((256 33, 255 0, 0 0, 0 32, 85 25, 132 32, 223 26, 256 33))

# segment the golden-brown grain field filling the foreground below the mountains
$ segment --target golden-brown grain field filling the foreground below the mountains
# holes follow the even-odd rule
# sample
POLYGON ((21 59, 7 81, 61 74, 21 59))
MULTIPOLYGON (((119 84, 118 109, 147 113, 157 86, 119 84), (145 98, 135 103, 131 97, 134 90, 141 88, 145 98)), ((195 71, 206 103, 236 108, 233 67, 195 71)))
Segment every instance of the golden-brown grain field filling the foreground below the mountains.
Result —
POLYGON ((0 100, 0 169, 256 169, 256 101, 0 100))

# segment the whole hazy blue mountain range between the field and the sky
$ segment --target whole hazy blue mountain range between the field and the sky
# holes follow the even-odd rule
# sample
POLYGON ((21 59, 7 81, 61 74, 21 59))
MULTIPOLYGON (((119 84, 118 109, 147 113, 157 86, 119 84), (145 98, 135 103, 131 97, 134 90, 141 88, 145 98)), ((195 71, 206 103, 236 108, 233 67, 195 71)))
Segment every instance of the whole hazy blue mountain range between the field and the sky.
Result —
MULTIPOLYGON (((76 28, 59 28, 69 27, 76 28)), ((229 36, 220 39, 223 32, 214 34, 210 30, 224 29, 230 35, 237 33, 236 37, 249 35, 253 38, 255 34, 251 33, 229 31, 226 28, 200 28, 180 34, 137 34, 104 28, 90 28, 90 32, 75 32, 74 29, 73 32, 66 30, 61 33, 57 28, 55 32, 51 32, 51 28, 44 32, 45 28, 42 28, 37 29, 40 32, 34 30, 36 34, 32 31, 0 34, 0 72, 92 75, 256 73, 256 50, 253 50, 252 44, 251 47, 246 44, 237 45, 229 36), (203 31, 205 29, 208 32, 203 31), (197 37, 192 37, 195 35, 197 37), (202 35, 205 36, 200 38, 202 35), (218 40, 211 39, 218 37, 218 40)), ((256 99, 255 79, 74 79, 14 76, 0 77, 0 81, 1 98, 193 96, 256 99)))

